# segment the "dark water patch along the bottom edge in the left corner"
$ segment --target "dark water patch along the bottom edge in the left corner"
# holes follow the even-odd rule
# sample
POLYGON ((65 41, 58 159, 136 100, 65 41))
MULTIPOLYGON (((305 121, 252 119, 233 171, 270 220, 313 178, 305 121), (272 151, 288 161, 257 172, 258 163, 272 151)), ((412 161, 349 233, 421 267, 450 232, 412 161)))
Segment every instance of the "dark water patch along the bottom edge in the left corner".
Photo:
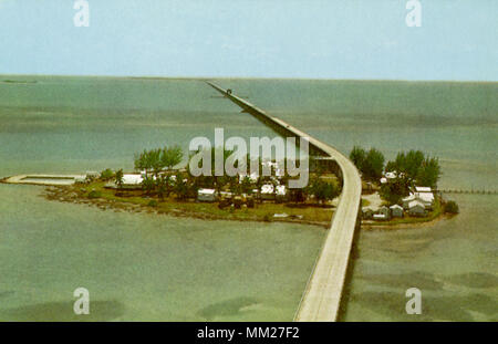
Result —
POLYGON ((0 321, 28 322, 101 322, 112 321, 124 314, 124 305, 118 301, 91 301, 90 314, 76 315, 74 301, 45 302, 17 309, 0 310, 0 321))

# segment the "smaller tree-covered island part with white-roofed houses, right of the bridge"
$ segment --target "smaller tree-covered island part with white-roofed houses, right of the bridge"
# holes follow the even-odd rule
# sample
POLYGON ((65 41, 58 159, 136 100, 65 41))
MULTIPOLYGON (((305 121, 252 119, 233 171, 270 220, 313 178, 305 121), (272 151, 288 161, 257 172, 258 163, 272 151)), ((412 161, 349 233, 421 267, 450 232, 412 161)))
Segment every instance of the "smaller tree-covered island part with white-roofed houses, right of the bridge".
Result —
POLYGON ((437 158, 421 150, 400 152, 384 165, 378 149, 355 146, 350 159, 362 174, 363 228, 403 228, 458 213, 458 205, 437 190, 437 158))

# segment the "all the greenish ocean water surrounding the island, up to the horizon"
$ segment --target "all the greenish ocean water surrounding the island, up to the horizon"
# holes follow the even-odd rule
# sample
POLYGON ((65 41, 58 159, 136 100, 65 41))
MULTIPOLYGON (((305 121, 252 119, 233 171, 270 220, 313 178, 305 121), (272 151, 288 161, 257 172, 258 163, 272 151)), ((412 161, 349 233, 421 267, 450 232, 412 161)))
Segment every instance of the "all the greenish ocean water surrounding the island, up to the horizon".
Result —
MULTIPOLYGON (((496 190, 497 83, 218 80, 347 153, 438 156, 443 188, 496 190)), ((144 148, 274 134, 197 80, 0 77, 0 177, 131 169, 144 148), (2 80, 30 83, 2 83, 2 80), (31 83, 35 82, 35 83, 31 83)), ((0 320, 292 320, 325 231, 199 221, 49 202, 0 185, 0 320)), ((496 196, 448 195, 461 213, 361 232, 346 321, 496 320, 496 196), (423 315, 406 315, 406 289, 423 315)))

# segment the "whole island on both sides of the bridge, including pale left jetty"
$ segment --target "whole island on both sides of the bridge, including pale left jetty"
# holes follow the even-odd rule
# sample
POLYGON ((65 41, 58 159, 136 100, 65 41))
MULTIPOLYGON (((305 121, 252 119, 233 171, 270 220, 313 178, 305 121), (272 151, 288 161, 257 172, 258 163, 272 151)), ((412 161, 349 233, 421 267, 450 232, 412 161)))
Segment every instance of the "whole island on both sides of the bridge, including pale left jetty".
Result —
MULTIPOLYGON (((224 161, 232 153, 224 149, 224 161)), ((187 164, 191 158, 190 155, 187 164)), ((362 228, 423 226, 458 213, 458 205, 443 199, 437 190, 440 177, 437 158, 409 150, 384 164, 378 149, 355 146, 350 159, 362 174, 362 228)), ((178 167, 183 161, 181 148, 172 146, 135 155, 135 170, 131 173, 106 168, 73 176, 15 176, 2 181, 46 185, 43 197, 49 200, 86 204, 102 210, 295 222, 323 228, 329 228, 342 191, 341 179, 323 160, 312 157, 308 186, 295 189, 288 187, 292 177, 283 168, 283 161, 259 158, 259 173, 232 177, 218 177, 214 173, 193 176, 188 168, 178 167), (271 174, 263 176, 263 168, 271 174)), ((247 157, 247 166, 250 164, 247 157)))

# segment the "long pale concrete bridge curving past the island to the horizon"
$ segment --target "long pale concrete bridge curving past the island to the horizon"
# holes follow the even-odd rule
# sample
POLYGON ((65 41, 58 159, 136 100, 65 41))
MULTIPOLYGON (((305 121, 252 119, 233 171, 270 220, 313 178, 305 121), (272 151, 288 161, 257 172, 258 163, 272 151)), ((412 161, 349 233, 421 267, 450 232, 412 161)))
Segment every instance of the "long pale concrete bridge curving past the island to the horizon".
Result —
POLYGON ((336 321, 354 232, 360 225, 362 183, 356 167, 335 148, 280 118, 270 116, 259 107, 232 94, 231 91, 224 90, 210 82, 208 84, 240 106, 242 112, 251 114, 279 134, 286 137, 307 138, 310 144, 310 154, 328 157, 335 161, 339 177, 343 181, 341 198, 294 320, 336 321))

